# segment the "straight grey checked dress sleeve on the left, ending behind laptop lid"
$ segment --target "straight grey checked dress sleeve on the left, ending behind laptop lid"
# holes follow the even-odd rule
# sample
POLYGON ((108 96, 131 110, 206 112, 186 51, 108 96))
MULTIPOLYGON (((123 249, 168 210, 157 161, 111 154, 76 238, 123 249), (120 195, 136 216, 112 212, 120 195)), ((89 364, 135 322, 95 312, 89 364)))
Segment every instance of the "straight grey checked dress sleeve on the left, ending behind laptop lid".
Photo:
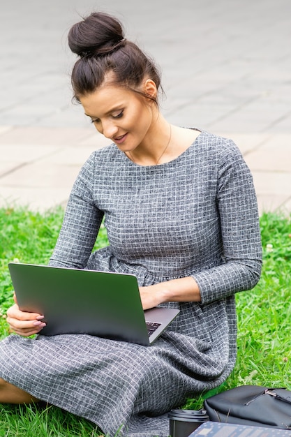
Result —
POLYGON ((82 269, 93 246, 103 218, 93 200, 94 154, 83 165, 73 185, 68 206, 50 265, 82 269))

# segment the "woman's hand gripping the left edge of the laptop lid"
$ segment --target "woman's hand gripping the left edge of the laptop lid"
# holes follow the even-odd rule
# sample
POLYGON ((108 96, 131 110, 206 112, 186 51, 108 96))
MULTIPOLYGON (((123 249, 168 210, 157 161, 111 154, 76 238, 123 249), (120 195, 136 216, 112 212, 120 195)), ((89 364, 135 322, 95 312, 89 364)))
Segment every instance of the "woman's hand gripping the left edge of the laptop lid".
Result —
POLYGON ((15 334, 22 336, 29 336, 38 334, 38 332, 45 327, 41 314, 38 313, 26 313, 20 311, 19 306, 15 303, 7 311, 7 322, 10 325, 10 329, 15 334))

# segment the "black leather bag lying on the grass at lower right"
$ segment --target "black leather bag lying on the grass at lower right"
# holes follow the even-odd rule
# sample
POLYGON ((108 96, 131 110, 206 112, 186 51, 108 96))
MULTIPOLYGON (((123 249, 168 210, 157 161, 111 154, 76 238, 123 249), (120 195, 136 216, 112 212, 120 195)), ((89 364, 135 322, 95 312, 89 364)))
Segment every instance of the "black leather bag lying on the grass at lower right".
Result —
POLYGON ((291 430, 291 392, 285 388, 241 385, 209 397, 204 408, 213 422, 291 430))

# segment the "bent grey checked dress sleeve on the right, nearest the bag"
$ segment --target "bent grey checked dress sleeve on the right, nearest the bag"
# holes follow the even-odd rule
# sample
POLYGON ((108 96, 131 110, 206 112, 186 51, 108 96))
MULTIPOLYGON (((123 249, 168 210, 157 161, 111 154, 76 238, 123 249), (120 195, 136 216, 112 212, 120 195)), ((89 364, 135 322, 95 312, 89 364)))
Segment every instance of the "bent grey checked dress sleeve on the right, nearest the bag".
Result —
POLYGON ((262 245, 253 177, 241 152, 227 140, 218 157, 216 205, 221 222, 223 264, 193 274, 206 304, 250 290, 258 283, 262 245))

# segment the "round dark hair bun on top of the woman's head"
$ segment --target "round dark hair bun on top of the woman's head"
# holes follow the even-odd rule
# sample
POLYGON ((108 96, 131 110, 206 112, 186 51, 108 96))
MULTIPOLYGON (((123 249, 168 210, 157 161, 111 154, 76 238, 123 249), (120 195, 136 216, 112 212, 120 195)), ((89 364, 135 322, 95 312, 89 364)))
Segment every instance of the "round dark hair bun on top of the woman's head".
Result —
POLYGON ((71 27, 68 45, 80 57, 98 56, 112 52, 124 43, 121 23, 105 13, 92 13, 71 27))

